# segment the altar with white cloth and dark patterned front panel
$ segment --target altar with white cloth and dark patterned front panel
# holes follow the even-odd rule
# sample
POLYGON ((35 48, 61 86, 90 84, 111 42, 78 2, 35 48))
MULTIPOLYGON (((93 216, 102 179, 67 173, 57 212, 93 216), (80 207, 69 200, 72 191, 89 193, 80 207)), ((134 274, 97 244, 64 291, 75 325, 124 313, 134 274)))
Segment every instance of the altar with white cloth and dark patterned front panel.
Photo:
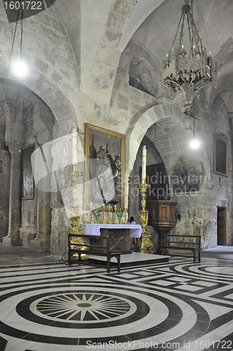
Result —
POLYGON ((128 224, 82 224, 84 234, 109 237, 110 251, 131 252, 131 238, 140 238, 142 227, 128 224))

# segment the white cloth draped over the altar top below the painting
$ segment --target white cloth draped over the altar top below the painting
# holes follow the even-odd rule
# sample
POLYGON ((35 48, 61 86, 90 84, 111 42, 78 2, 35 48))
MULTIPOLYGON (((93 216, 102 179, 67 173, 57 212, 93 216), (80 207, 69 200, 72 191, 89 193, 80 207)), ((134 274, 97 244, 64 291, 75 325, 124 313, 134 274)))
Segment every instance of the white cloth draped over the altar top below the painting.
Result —
POLYGON ((84 234, 100 235, 100 228, 119 228, 129 229, 131 238, 140 238, 142 234, 142 227, 138 224, 82 224, 81 228, 84 229, 84 234))

